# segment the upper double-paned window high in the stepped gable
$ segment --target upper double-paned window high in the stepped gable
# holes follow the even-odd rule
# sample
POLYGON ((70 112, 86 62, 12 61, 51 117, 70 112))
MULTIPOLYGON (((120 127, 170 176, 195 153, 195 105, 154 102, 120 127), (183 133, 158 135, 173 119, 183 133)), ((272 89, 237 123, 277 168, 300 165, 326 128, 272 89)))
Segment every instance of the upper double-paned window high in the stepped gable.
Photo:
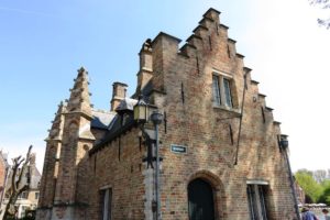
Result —
POLYGON ((231 80, 222 75, 212 78, 213 105, 232 108, 231 80))

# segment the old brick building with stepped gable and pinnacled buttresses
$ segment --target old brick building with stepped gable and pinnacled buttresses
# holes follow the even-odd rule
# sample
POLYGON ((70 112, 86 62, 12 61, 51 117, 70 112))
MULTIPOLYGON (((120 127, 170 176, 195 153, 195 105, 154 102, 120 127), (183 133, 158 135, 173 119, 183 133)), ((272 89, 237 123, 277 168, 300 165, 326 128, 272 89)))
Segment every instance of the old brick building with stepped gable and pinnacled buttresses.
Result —
POLYGON ((162 219, 295 219, 279 122, 219 14, 209 9, 180 48, 166 33, 147 40, 135 94, 114 82, 110 111, 92 109, 78 70, 46 140, 38 219, 155 219, 154 128, 145 139, 133 120, 141 96, 164 114, 162 219))

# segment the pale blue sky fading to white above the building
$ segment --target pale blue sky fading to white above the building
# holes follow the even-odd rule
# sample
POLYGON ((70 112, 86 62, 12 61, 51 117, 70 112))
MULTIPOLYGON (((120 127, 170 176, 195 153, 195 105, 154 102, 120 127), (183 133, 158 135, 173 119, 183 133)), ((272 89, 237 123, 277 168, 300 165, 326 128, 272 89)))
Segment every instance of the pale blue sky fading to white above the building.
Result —
POLYGON ((324 11, 307 0, 0 0, 0 147, 11 158, 33 144, 41 168, 43 140, 80 66, 91 102, 109 109, 113 81, 134 91, 142 43, 160 31, 185 41, 210 7, 290 135, 294 169, 330 168, 330 31, 316 23, 324 11))

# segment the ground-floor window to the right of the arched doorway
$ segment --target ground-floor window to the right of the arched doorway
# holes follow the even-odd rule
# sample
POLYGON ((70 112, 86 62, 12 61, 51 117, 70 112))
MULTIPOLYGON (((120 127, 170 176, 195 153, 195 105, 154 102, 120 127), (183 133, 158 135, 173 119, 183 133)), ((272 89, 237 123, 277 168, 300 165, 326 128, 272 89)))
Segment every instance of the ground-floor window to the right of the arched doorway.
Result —
POLYGON ((267 185, 248 184, 248 199, 251 220, 267 220, 267 185))

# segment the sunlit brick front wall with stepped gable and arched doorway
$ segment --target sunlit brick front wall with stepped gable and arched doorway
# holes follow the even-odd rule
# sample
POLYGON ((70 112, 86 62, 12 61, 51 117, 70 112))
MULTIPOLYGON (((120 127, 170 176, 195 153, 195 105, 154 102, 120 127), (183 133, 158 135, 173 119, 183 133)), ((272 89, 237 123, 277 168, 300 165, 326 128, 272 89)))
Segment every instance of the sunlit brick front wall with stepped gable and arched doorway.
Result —
POLYGON ((162 175, 163 219, 188 219, 187 185, 195 175, 213 186, 218 218, 249 219, 246 180, 258 179, 270 183, 270 218, 292 219, 294 204, 287 167, 277 145, 280 131, 273 121, 271 109, 265 109, 264 98, 258 95, 255 82, 251 82, 250 75, 238 165, 233 165, 240 119, 235 111, 212 106, 212 74, 217 70, 232 76, 233 102, 240 110, 245 73, 242 57, 235 55, 234 45, 228 41, 227 29, 217 30, 215 22, 207 23, 208 30, 199 32, 201 40, 196 40, 196 48, 188 48, 188 58, 177 53, 168 36, 162 36, 162 44, 166 45, 162 52, 154 50, 154 64, 163 64, 163 72, 154 80, 166 92, 166 96, 154 96, 155 103, 167 116, 166 134, 161 127, 161 154, 165 158, 162 175), (224 118, 232 119, 222 120, 224 118), (232 127, 233 144, 229 124, 232 127), (169 151, 170 144, 186 145, 188 153, 174 154, 169 151))

